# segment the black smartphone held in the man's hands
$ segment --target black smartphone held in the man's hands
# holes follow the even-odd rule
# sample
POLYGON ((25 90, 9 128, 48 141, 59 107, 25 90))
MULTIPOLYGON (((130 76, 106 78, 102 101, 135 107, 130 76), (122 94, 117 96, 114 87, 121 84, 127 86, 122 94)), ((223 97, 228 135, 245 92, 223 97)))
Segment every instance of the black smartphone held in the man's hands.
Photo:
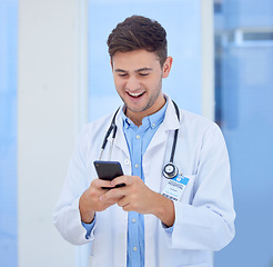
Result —
MULTIPOLYGON (((94 168, 100 179, 112 180, 115 177, 123 176, 123 171, 119 161, 102 161, 95 160, 94 168)), ((117 187, 123 187, 125 184, 117 185, 117 187)), ((112 187, 103 187, 103 189, 111 189, 112 187)))

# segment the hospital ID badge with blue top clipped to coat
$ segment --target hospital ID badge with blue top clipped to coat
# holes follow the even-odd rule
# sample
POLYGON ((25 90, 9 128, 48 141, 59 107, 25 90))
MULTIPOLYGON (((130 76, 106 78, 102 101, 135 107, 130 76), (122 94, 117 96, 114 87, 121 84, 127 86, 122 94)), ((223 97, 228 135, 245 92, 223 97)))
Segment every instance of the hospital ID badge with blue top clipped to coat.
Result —
POLYGON ((185 187, 189 182, 189 178, 184 177, 183 175, 178 175, 172 179, 169 179, 163 191, 162 196, 179 201, 185 190, 185 187))

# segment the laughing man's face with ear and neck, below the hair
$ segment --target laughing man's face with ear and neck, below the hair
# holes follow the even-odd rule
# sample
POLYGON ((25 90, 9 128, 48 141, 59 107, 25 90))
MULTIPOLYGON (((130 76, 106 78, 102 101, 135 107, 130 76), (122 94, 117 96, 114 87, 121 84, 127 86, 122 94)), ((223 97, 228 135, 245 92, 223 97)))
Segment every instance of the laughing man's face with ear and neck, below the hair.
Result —
POLYGON ((143 117, 164 106, 162 78, 169 76, 171 57, 161 67, 154 52, 136 50, 114 53, 111 63, 115 89, 134 123, 140 125, 143 117))

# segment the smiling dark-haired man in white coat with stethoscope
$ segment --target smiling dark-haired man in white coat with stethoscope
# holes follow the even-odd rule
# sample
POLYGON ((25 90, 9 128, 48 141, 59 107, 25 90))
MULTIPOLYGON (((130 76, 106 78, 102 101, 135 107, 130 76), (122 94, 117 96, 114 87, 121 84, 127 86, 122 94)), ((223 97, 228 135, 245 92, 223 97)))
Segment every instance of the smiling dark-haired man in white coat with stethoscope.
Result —
POLYGON ((156 21, 133 16, 108 39, 124 106, 83 128, 53 215, 68 241, 91 241, 90 266, 212 266, 212 251, 234 236, 222 134, 163 95, 172 67, 165 36, 156 21), (97 178, 93 161, 112 120, 117 136, 102 160, 120 161, 124 176, 109 181, 97 178), (176 168, 170 179, 162 174, 176 168), (113 188, 119 184, 125 186, 113 188))

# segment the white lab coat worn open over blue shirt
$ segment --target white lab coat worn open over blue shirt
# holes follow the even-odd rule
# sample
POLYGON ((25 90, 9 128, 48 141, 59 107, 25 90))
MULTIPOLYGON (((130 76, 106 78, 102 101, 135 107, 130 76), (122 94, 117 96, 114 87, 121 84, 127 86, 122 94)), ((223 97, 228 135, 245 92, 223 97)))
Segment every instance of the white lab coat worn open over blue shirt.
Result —
MULTIPOLYGON (((175 222, 169 234, 153 215, 144 215, 146 267, 211 267, 212 251, 226 246, 234 236, 233 197, 230 165, 221 130, 200 116, 180 110, 178 120, 169 99, 164 121, 143 156, 146 186, 162 192, 166 179, 162 169, 170 160, 173 134, 179 128, 174 164, 190 178, 180 201, 174 201, 175 222)), ((125 267, 128 212, 114 205, 97 212, 97 222, 89 239, 81 225, 79 198, 97 178, 93 161, 99 158, 112 115, 87 125, 79 138, 68 176, 53 214, 53 221, 63 238, 74 245, 91 241, 90 266, 125 267)), ((111 160, 121 162, 131 175, 130 155, 123 135, 120 111, 118 132, 111 160)), ((111 138, 103 152, 108 160, 111 138)))

